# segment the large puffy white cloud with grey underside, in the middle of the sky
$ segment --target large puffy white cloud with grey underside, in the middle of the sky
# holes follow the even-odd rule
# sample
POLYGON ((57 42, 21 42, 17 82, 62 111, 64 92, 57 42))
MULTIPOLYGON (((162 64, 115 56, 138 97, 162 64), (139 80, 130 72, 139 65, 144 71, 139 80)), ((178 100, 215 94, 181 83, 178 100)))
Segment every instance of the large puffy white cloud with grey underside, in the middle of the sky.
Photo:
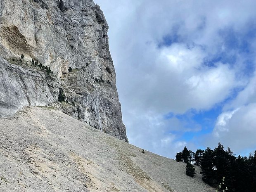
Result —
MULTIPOLYGON (((144 54, 142 51, 142 56, 144 54)), ((237 86, 235 71, 228 64, 204 66, 206 54, 199 47, 173 44, 163 49, 155 48, 152 55, 154 58, 147 64, 121 69, 126 73, 124 84, 127 86, 119 91, 129 98, 128 107, 162 115, 168 112, 183 114, 191 108, 209 109, 228 97, 237 86)), ((120 99, 123 100, 122 95, 120 99)))

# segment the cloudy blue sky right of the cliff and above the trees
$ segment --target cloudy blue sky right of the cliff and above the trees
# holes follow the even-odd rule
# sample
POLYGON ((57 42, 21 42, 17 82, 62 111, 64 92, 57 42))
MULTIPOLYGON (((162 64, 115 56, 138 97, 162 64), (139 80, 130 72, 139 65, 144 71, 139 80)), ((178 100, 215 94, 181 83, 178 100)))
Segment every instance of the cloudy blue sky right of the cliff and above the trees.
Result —
POLYGON ((95 0, 131 144, 256 150, 255 0, 95 0))

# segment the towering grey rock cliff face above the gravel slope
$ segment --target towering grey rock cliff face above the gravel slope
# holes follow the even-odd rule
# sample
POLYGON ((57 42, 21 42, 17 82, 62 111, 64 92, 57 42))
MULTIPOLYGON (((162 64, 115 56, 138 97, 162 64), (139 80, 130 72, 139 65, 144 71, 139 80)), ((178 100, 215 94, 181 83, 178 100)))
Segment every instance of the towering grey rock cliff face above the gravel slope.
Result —
POLYGON ((107 31, 92 0, 1 0, 0 116, 54 105, 128 142, 107 31))

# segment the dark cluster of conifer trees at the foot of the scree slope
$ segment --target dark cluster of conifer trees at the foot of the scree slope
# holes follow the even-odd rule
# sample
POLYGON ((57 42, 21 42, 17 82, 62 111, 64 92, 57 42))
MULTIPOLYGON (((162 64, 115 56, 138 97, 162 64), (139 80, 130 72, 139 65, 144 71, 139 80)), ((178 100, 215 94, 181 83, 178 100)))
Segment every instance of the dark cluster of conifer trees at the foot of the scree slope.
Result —
POLYGON ((190 175, 193 162, 201 166, 203 181, 216 187, 216 192, 256 191, 256 151, 249 157, 235 157, 230 148, 224 150, 219 142, 214 150, 207 147, 205 150, 198 149, 196 153, 185 147, 183 152, 177 153, 176 161, 187 163, 186 173, 190 175))

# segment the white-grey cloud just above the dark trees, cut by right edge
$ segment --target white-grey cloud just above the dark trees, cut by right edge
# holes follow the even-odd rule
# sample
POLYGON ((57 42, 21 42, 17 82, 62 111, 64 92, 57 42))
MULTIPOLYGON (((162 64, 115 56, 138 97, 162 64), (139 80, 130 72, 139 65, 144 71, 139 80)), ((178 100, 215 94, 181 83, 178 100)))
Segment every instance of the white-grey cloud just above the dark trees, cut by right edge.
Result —
POLYGON ((221 141, 237 152, 256 148, 256 103, 242 106, 240 109, 223 112, 214 128, 215 140, 221 141))

